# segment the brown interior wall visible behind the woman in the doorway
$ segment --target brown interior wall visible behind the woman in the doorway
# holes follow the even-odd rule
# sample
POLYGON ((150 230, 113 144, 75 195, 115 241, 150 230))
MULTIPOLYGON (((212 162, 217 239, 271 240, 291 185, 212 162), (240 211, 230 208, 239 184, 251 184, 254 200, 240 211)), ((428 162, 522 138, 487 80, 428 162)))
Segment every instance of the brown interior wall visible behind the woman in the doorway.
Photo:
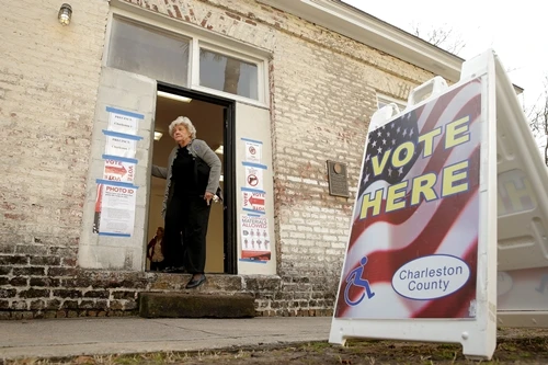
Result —
MULTIPOLYGON (((163 136, 160 140, 155 140, 153 142, 153 164, 161 167, 167 166, 168 157, 173 147, 175 147, 174 140, 169 135, 169 125, 181 115, 186 116, 192 121, 196 127, 196 137, 205 140, 213 150, 216 150, 220 145, 222 145, 222 106, 197 100, 184 103, 159 96, 156 107, 155 132, 161 132, 163 136)), ((222 155, 217 156, 219 156, 222 162, 222 155)), ((224 189, 222 182, 220 183, 220 187, 224 189)), ((165 180, 158 178, 151 179, 148 240, 152 239, 158 227, 164 226, 161 217, 164 189, 165 180)), ((224 240, 222 204, 213 204, 207 230, 207 253, 205 267, 207 273, 224 272, 224 240)))

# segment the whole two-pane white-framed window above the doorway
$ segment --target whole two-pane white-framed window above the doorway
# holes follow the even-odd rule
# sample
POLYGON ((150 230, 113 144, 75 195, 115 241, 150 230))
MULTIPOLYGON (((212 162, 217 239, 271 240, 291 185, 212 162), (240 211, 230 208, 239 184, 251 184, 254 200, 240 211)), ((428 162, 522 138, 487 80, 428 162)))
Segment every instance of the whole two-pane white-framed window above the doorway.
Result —
POLYGON ((105 65, 224 98, 267 104, 266 55, 233 41, 180 35, 178 27, 113 15, 105 65), (167 30, 163 30, 163 28, 167 30), (230 46, 231 45, 231 46, 230 46))

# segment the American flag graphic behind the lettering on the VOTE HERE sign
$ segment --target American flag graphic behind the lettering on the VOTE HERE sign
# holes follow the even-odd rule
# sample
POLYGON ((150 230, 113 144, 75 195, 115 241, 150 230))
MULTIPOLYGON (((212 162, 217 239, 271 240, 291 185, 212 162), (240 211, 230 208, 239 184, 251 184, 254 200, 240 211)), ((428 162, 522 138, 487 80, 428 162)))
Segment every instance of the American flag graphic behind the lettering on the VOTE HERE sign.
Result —
MULTIPOLYGON (((346 258, 335 303, 336 318, 472 318, 476 301, 477 248, 479 231, 479 167, 481 142, 481 81, 464 83, 439 98, 370 130, 363 161, 358 197, 346 258), (469 141, 446 148, 446 125, 469 117, 469 141), (441 128, 433 139, 433 153, 423 157, 425 144, 419 136, 441 128), (403 149, 399 156, 409 163, 395 168, 388 160, 381 173, 374 173, 384 153, 412 142, 412 156, 403 149), (443 170, 468 161, 468 190, 411 205, 414 178, 434 173, 435 192, 442 191, 443 170), (408 181, 403 208, 385 212, 388 186, 408 181), (361 219, 364 196, 383 190, 380 214, 368 209, 361 219), (433 254, 452 255, 469 267, 466 283, 453 293, 431 299, 413 299, 398 294, 392 276, 412 260, 433 254), (366 263, 364 264, 364 258, 366 263), (357 270, 357 271, 356 271, 357 270), (359 274, 356 276, 356 273, 359 274), (369 287, 355 285, 367 281, 369 287), (345 295, 346 294, 346 295, 345 295), (373 296, 372 296, 373 294, 373 296), (346 299, 345 299, 346 298, 346 299), (362 300, 363 299, 363 300, 362 300)), ((409 146, 410 144, 408 144, 409 146)), ((438 258, 438 256, 435 256, 438 258)), ((456 259, 455 259, 456 260, 456 259)))

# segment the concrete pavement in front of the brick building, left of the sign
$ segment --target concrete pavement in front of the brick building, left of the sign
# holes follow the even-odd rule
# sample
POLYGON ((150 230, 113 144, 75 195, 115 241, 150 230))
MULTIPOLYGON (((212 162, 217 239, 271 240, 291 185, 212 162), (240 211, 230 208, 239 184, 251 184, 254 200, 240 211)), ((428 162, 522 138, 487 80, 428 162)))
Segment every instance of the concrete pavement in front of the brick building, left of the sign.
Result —
POLYGON ((327 341, 330 328, 331 317, 2 320, 0 360, 282 345, 327 341))

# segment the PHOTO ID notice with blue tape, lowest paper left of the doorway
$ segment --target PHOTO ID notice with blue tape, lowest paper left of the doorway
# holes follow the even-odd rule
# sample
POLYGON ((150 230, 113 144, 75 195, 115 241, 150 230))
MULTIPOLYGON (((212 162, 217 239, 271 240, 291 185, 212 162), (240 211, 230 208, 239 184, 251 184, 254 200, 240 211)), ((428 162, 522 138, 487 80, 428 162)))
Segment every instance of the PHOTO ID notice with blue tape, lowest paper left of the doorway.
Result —
POLYGON ((137 186, 111 185, 105 180, 98 182, 101 184, 98 186, 93 231, 102 236, 130 237, 135 225, 137 186))

